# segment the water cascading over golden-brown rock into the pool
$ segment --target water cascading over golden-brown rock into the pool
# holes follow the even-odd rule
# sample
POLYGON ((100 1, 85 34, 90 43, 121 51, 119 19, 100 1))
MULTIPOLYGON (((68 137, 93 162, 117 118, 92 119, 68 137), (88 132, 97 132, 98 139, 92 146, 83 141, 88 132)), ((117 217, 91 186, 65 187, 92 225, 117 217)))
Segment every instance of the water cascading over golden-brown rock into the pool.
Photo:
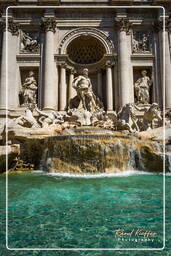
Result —
MULTIPOLYGON (((161 172, 163 169, 162 143, 134 135, 107 134, 93 127, 86 132, 84 127, 75 134, 48 138, 45 144, 41 168, 50 173, 161 172)), ((170 168, 169 158, 166 171, 170 168)))

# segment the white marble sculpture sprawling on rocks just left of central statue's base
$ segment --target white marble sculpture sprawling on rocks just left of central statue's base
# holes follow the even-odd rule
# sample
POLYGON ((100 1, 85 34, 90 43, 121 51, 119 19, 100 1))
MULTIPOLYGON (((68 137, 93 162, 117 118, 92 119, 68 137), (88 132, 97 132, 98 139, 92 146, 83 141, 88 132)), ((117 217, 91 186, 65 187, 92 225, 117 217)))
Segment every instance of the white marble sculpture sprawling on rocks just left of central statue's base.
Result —
POLYGON ((58 112, 51 111, 49 113, 46 113, 39 110, 37 107, 35 108, 35 110, 39 114, 38 122, 41 124, 42 128, 47 128, 50 125, 61 124, 64 122, 63 116, 58 112))

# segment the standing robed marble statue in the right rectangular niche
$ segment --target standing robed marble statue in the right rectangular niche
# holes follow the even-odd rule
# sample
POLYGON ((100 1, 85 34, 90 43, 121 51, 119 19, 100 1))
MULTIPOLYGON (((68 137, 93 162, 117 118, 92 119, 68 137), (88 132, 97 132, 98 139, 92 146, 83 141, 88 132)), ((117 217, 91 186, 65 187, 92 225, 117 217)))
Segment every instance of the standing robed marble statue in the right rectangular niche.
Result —
POLYGON ((147 71, 141 71, 142 77, 139 78, 135 84, 135 96, 138 104, 149 104, 150 103, 150 87, 152 80, 147 76, 147 71))

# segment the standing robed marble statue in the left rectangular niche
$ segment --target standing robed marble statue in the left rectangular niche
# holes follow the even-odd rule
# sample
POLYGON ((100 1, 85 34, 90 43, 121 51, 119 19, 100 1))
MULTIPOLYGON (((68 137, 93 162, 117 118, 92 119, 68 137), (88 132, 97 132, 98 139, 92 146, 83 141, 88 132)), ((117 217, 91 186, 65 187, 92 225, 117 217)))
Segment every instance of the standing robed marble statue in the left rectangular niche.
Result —
POLYGON ((21 94, 24 101, 23 106, 36 106, 37 82, 33 71, 29 71, 28 77, 26 77, 22 85, 21 94))

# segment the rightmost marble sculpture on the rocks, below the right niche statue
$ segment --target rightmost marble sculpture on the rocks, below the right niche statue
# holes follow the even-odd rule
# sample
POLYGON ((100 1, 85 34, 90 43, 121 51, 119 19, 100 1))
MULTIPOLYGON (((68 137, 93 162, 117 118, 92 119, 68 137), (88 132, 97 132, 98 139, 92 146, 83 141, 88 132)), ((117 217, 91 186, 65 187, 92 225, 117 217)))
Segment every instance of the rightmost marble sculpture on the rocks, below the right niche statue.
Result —
POLYGON ((149 109, 146 109, 143 116, 143 130, 149 130, 155 128, 156 126, 162 126, 162 116, 161 111, 157 103, 151 104, 149 109))

